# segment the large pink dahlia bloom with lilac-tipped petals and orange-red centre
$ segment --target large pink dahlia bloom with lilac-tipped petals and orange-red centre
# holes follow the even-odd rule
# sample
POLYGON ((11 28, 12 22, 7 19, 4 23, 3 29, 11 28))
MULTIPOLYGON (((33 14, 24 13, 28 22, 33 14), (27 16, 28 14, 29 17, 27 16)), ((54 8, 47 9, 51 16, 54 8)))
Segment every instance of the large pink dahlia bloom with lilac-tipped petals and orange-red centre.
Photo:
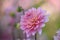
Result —
POLYGON ((27 37, 35 35, 36 32, 42 33, 42 28, 48 22, 48 15, 45 13, 47 12, 41 8, 32 8, 25 11, 25 14, 21 16, 20 29, 26 33, 27 37))

